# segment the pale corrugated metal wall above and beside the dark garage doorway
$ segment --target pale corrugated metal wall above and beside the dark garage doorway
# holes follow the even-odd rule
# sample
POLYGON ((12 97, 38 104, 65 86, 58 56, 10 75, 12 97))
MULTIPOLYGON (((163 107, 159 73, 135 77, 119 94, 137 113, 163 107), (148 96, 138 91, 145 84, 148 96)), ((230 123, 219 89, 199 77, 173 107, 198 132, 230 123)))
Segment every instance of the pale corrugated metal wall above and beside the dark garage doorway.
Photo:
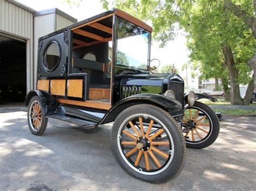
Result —
POLYGON ((27 91, 33 88, 33 13, 0 0, 0 31, 26 40, 27 91))

